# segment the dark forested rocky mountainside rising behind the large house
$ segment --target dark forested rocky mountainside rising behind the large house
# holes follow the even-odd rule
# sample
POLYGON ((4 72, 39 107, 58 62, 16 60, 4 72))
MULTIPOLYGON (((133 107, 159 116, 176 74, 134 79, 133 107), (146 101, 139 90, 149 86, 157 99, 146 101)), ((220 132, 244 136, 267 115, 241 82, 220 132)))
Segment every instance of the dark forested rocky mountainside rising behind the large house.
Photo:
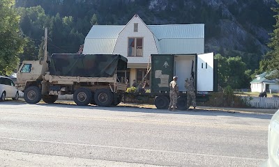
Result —
POLYGON ((255 56, 257 62, 268 50, 266 43, 275 24, 271 8, 276 5, 272 0, 16 1, 17 7, 42 6, 46 15, 73 16, 75 30, 84 36, 91 29, 94 14, 98 24, 127 24, 136 13, 146 24, 205 23, 206 51, 223 56, 255 56))

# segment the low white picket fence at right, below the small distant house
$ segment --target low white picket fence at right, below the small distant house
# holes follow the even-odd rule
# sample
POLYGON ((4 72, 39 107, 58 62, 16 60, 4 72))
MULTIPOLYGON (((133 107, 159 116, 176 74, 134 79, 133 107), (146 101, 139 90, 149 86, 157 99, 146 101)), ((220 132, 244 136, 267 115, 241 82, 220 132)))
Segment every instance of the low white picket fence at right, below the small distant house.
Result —
POLYGON ((247 97, 243 96, 247 104, 258 109, 279 109, 279 97, 247 97))

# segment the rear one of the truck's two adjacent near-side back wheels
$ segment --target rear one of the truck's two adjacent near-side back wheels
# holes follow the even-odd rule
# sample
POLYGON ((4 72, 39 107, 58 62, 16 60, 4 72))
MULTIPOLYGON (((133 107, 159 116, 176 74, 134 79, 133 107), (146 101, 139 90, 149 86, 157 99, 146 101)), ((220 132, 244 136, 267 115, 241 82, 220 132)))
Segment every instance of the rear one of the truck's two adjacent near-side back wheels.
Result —
POLYGON ((109 89, 98 89, 95 92, 94 100, 98 106, 112 105, 112 92, 109 89))

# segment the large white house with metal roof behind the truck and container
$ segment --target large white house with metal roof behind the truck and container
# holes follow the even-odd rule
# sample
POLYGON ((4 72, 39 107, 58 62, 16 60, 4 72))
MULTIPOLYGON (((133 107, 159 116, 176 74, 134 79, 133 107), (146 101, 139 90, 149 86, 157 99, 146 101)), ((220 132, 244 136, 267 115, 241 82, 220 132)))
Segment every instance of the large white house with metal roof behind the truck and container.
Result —
POLYGON ((92 26, 82 53, 125 56, 131 84, 142 80, 151 54, 203 54, 204 24, 146 25, 135 15, 126 25, 92 26))

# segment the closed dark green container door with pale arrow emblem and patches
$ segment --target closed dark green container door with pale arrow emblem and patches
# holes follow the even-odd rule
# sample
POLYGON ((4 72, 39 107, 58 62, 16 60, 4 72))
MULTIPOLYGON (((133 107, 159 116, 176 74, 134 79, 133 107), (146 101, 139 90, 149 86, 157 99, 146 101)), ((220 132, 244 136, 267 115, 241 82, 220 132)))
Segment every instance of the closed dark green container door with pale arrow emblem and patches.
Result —
POLYGON ((174 55, 151 55, 151 93, 168 93, 174 77, 174 55))

